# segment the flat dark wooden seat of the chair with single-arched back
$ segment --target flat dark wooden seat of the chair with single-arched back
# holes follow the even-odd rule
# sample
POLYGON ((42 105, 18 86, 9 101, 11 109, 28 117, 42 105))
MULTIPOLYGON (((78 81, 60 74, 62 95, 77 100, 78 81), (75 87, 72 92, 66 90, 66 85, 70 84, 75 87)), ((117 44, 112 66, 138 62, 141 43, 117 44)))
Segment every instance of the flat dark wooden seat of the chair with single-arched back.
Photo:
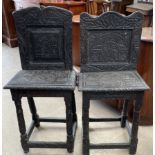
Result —
POLYGON ((22 70, 4 88, 74 90, 75 80, 75 72, 69 70, 22 70))

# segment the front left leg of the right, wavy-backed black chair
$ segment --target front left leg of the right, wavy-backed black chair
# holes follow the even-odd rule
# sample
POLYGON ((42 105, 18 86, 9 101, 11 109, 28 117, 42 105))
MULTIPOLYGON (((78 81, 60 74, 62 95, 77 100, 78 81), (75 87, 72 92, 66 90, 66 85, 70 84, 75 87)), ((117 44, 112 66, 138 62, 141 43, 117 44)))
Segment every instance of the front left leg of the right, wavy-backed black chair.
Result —
POLYGON ((83 123, 83 155, 89 155, 89 107, 90 101, 83 94, 82 123, 83 123))

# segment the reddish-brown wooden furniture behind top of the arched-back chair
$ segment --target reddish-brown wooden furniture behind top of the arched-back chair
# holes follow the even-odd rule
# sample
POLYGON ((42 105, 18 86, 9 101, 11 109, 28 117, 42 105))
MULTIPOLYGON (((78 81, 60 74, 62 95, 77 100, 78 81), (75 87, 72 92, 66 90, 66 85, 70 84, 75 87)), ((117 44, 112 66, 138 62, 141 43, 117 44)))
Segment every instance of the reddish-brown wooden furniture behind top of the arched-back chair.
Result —
POLYGON ((86 3, 83 1, 64 1, 64 0, 41 0, 41 5, 57 6, 70 10, 74 15, 86 11, 86 3))

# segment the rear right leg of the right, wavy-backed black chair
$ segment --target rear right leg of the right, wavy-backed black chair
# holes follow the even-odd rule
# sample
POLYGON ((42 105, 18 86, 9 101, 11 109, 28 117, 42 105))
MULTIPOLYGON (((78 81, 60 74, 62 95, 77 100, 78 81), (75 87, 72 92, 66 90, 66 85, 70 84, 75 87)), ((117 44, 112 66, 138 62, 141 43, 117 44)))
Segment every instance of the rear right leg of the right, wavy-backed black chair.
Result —
POLYGON ((126 120, 128 119, 128 105, 129 105, 129 100, 125 100, 123 104, 122 118, 121 118, 122 128, 126 126, 126 120))

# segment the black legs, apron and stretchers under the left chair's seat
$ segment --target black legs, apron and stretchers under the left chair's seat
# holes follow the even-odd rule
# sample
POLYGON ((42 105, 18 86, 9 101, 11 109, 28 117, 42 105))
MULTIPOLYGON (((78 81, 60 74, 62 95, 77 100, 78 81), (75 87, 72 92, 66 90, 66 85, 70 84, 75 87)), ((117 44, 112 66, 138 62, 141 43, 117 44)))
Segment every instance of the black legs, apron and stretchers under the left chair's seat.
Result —
MULTIPOLYGON (((11 89, 12 99, 15 101, 16 109, 17 109, 17 118, 19 124, 19 130, 21 133, 21 144, 25 153, 29 152, 29 148, 67 148, 68 152, 73 152, 74 148, 74 140, 76 135, 77 129, 77 120, 73 119, 73 115, 76 116, 75 109, 72 107, 74 102, 72 101, 73 91, 47 91, 47 90, 14 90, 11 89), (31 93, 33 92, 33 93, 31 93), (41 95, 40 95, 41 94, 41 95), (67 130, 67 142, 66 143, 59 143, 59 142, 30 142, 29 138, 32 134, 32 131, 35 126, 35 122, 33 120, 30 128, 26 132, 24 116, 22 112, 21 106, 21 98, 24 96, 28 97, 64 97, 65 105, 66 105, 66 119, 56 119, 56 118, 39 118, 37 121, 40 122, 53 122, 53 123, 66 123, 66 130, 67 130)), ((77 116, 76 116, 77 117, 77 116)))

